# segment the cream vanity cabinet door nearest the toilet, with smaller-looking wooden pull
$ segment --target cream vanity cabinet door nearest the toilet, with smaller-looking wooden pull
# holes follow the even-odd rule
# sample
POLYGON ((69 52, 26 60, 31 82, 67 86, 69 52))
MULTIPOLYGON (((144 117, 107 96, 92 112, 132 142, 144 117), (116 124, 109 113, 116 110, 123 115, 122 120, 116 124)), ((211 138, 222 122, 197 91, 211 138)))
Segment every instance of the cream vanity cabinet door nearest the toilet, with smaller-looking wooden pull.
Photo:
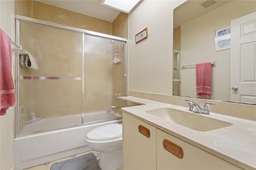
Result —
POLYGON ((123 170, 155 169, 156 128, 123 112, 123 170))

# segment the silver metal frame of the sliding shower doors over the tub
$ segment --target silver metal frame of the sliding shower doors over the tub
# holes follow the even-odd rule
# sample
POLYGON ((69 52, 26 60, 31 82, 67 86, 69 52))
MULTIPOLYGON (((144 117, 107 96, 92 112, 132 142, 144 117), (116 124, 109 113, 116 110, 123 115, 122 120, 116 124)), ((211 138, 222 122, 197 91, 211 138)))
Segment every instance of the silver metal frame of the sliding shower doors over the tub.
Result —
MULTIPOLYGON (((127 79, 127 47, 128 47, 128 40, 126 38, 121 38, 121 37, 117 37, 117 36, 112 36, 112 35, 108 35, 108 34, 103 34, 103 33, 99 33, 99 32, 94 32, 94 31, 89 31, 89 30, 83 30, 80 28, 74 28, 74 27, 70 27, 70 26, 65 26, 65 25, 61 25, 61 24, 56 24, 53 22, 47 22, 47 21, 43 21, 43 20, 38 20, 38 19, 34 19, 34 18, 29 18, 29 17, 25 17, 25 16, 16 16, 16 44, 19 44, 19 22, 28 22, 31 24, 38 24, 41 26, 47 26, 50 28, 56 28, 56 29, 61 29, 61 30, 67 30, 67 31, 72 31, 72 32, 77 32, 82 34, 82 77, 50 77, 51 79, 72 79, 72 80, 82 80, 82 96, 84 95, 84 36, 85 35, 89 35, 89 36, 96 36, 99 38, 106 38, 106 39, 110 39, 110 40, 118 40, 121 42, 124 42, 124 96, 126 96, 126 91, 127 91, 127 85, 126 85, 126 79, 127 79)), ((33 77, 30 78, 29 76, 19 76, 19 56, 18 53, 16 53, 16 59, 15 59, 15 89, 16 89, 16 99, 17 99, 17 105, 15 108, 15 138, 17 137, 22 137, 22 136, 27 136, 27 135, 18 135, 18 115, 19 115, 19 79, 48 79, 49 77, 33 77)), ((82 97, 82 103, 83 103, 83 97, 82 97)), ((126 106, 126 101, 124 101, 124 106, 126 106)), ((113 119, 109 119, 108 121, 111 120, 115 120, 115 118, 113 119)), ((98 122, 102 122, 102 121, 94 121, 92 123, 98 123, 98 122)), ((81 120, 81 125, 88 125, 91 123, 84 123, 84 111, 83 111, 83 105, 82 105, 82 120, 81 120)), ((71 127, 76 127, 76 126, 81 126, 81 125, 74 125, 71 127)), ((66 128, 70 128, 70 127, 66 127, 66 128)), ((47 131, 53 131, 53 130, 47 130, 47 131)), ((38 134, 38 132, 35 133, 30 133, 29 135, 32 134, 38 134)))

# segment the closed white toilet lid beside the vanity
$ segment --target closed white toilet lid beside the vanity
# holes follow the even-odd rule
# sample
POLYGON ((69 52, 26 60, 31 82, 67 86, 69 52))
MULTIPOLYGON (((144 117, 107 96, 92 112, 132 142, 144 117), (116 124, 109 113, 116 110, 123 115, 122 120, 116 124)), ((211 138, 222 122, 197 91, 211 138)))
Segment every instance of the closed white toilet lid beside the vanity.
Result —
POLYGON ((92 141, 107 141, 122 137, 122 126, 119 124, 103 125, 92 129, 86 138, 92 141))

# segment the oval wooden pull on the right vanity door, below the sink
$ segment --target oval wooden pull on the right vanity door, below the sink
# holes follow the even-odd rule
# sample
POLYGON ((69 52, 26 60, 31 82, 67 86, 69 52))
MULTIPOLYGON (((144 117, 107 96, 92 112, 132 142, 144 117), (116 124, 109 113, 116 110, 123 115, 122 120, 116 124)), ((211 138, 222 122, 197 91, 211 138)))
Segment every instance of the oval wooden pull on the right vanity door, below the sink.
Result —
POLYGON ((183 150, 180 146, 170 142, 167 139, 163 140, 163 146, 164 149, 173 154, 174 156, 177 156, 178 158, 183 158, 183 150))

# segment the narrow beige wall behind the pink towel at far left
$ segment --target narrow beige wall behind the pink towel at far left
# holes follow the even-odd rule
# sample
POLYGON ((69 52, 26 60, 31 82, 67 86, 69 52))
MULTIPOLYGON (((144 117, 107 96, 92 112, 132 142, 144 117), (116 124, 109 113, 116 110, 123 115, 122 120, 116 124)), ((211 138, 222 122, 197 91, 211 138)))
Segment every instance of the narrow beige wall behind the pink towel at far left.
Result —
MULTIPOLYGON (((0 0, 0 28, 14 41, 14 1, 0 0)), ((14 54, 12 57, 14 63, 14 54)), ((14 74, 12 74, 14 77, 14 74)), ((0 169, 10 170, 13 167, 13 115, 14 107, 0 117, 0 169)))

